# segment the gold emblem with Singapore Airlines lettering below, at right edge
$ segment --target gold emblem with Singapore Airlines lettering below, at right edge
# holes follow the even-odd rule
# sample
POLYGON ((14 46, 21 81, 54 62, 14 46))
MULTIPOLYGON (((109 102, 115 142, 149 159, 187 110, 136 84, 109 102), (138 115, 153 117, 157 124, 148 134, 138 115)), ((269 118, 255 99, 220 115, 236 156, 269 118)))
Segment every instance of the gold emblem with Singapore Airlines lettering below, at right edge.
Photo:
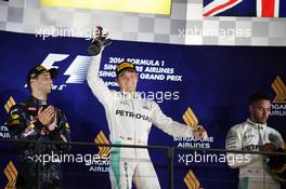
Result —
POLYGON ((286 116, 286 86, 280 76, 271 84, 275 97, 271 105, 271 116, 286 116))

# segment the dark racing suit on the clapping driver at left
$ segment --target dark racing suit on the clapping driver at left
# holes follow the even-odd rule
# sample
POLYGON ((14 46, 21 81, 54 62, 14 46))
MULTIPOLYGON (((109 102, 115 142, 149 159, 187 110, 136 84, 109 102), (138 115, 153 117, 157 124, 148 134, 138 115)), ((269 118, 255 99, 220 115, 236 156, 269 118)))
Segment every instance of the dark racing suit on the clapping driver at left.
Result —
MULTIPOLYGON (((48 107, 46 102, 35 97, 13 106, 9 111, 6 122, 11 138, 25 139, 32 141, 69 141, 69 125, 64 113, 55 108, 56 124, 52 131, 49 131, 38 120, 38 110, 40 107, 48 107)), ((46 162, 36 159, 46 154, 61 154, 69 150, 68 145, 63 144, 43 144, 36 150, 35 143, 18 143, 16 147, 20 152, 21 167, 17 175, 17 189, 57 189, 61 188, 62 172, 58 161, 46 162)))

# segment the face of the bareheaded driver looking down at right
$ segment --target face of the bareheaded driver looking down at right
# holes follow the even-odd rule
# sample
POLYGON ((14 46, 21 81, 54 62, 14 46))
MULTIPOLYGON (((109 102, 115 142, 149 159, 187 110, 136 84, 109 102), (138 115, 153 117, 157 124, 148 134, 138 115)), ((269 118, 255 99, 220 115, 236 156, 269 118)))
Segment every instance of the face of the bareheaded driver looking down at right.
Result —
POLYGON ((256 123, 265 123, 269 119, 271 103, 268 99, 261 99, 249 106, 250 120, 256 123))

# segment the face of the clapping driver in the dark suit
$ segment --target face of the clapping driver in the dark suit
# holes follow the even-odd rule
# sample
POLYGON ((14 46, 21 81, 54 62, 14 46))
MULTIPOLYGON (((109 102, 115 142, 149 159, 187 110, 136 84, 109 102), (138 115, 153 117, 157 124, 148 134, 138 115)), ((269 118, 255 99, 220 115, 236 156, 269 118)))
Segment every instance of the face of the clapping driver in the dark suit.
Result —
POLYGON ((36 78, 31 79, 31 89, 41 92, 46 95, 52 91, 52 78, 50 72, 43 72, 36 78))

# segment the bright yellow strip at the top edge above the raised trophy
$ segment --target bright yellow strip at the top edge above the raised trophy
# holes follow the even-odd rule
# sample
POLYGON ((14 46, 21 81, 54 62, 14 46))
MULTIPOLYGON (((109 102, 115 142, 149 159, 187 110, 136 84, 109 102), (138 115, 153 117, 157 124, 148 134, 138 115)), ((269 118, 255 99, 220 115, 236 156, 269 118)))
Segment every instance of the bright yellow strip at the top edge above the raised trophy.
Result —
POLYGON ((171 14, 171 0, 41 0, 42 5, 171 14))

